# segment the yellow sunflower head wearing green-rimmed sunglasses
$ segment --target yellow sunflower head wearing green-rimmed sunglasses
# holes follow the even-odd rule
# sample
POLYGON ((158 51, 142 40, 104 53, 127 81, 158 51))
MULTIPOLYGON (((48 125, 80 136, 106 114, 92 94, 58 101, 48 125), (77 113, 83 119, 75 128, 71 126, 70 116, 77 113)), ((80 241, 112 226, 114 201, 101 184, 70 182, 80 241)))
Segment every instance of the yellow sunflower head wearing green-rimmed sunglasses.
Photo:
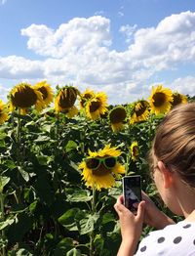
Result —
MULTIPOLYGON (((115 185, 115 179, 119 179, 121 174, 125 173, 125 167, 121 165, 117 160, 112 168, 107 168, 104 164, 100 163, 98 169, 94 170, 87 166, 86 160, 98 157, 118 157, 121 151, 117 148, 110 148, 110 145, 106 145, 104 149, 92 152, 89 150, 89 157, 87 157, 79 165, 79 169, 83 169, 82 176, 87 187, 96 188, 98 191, 101 189, 108 189, 115 185)), ((117 158, 116 158, 117 159, 117 158)))

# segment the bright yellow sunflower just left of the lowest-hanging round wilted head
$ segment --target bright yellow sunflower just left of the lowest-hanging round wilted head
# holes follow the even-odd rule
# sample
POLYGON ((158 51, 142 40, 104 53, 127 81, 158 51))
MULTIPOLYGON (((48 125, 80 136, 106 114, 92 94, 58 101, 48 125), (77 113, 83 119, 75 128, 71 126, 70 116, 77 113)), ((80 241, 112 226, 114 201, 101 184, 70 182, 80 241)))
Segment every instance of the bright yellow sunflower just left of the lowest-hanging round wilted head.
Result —
POLYGON ((107 107, 107 96, 104 93, 98 93, 86 103, 86 115, 90 119, 97 120, 107 111, 107 107))

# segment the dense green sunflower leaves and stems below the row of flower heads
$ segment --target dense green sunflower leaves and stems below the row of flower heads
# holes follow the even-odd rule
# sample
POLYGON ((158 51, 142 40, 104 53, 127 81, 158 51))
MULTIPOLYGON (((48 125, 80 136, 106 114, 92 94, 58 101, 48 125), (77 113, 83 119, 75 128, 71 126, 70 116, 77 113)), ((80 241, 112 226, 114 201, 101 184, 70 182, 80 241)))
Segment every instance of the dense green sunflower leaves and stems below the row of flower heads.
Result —
MULTIPOLYGON (((121 235, 113 205, 121 181, 92 192, 78 164, 88 149, 121 149, 126 174, 142 176, 143 190, 156 197, 147 152, 162 116, 113 133, 107 119, 67 119, 52 111, 14 113, 0 127, 0 248, 2 255, 116 255, 121 235), (137 141, 137 161, 130 146, 137 141), (110 249, 111 244, 111 249, 110 249)), ((161 201, 156 199, 161 206, 161 201)))

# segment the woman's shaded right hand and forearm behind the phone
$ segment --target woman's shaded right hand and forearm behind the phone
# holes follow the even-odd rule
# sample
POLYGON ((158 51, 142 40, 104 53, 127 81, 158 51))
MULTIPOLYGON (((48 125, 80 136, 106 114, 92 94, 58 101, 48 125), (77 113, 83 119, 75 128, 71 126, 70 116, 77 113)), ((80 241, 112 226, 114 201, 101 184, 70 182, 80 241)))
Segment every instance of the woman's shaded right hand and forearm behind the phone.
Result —
POLYGON ((141 195, 142 199, 145 201, 145 211, 143 218, 143 222, 145 224, 158 230, 163 229, 170 224, 175 224, 171 218, 169 218, 165 213, 156 207, 154 202, 145 192, 141 192, 141 195))

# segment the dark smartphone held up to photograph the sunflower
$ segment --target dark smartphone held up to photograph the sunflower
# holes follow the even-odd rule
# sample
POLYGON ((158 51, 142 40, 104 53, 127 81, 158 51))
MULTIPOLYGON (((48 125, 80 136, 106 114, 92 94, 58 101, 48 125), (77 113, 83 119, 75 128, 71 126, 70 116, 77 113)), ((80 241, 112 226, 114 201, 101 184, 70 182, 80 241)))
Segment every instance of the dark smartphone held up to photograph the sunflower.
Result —
POLYGON ((141 201, 141 178, 140 175, 125 176, 123 181, 124 205, 133 213, 137 213, 135 202, 141 201))

